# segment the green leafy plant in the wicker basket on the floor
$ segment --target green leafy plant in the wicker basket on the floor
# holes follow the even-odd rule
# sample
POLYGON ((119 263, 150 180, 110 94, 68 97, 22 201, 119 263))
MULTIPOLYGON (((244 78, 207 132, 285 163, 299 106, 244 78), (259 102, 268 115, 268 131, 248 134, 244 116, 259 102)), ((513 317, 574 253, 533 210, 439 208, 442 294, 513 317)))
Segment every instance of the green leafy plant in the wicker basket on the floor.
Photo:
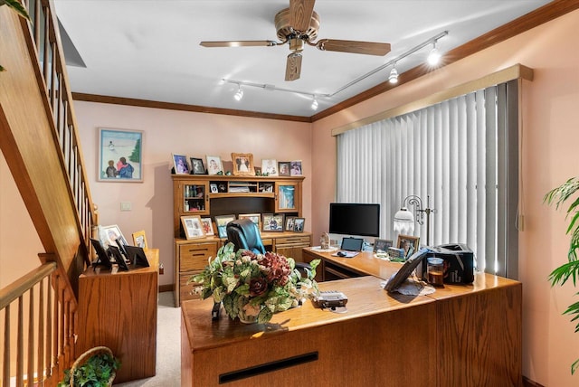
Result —
MULTIPOLYGON (((86 363, 74 369, 75 387, 107 387, 112 373, 120 366, 119 359, 110 354, 94 354, 86 363)), ((69 386, 71 383, 71 370, 64 372, 64 381, 59 382, 59 387, 69 386)))

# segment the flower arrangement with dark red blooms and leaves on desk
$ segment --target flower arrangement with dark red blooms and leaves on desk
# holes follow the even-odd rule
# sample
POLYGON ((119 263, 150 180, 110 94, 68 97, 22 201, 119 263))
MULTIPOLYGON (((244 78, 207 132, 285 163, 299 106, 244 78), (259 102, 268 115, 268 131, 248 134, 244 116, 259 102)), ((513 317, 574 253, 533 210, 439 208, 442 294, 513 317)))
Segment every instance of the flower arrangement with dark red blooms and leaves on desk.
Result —
POLYGON ((195 292, 201 297, 214 297, 232 319, 242 322, 267 323, 276 312, 297 307, 310 289, 318 291, 314 280, 319 260, 310 262, 311 270, 302 278, 295 261, 283 255, 250 250, 234 251, 227 243, 202 273, 189 279, 199 284, 195 292))

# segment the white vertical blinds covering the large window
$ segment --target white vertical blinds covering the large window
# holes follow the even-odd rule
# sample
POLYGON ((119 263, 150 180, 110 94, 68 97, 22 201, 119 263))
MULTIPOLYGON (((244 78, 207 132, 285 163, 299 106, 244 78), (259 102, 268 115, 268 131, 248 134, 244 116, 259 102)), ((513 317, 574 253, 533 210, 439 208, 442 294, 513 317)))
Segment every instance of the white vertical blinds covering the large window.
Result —
MULTIPOLYGON (((479 269, 516 277, 516 213, 506 209, 518 197, 518 169, 508 168, 518 160, 517 114, 510 81, 346 131, 337 136, 337 202, 380 203, 381 237, 394 239, 404 198, 418 195, 423 208, 430 198, 432 245, 466 243, 479 269)), ((425 242, 426 222, 414 234, 425 242)))

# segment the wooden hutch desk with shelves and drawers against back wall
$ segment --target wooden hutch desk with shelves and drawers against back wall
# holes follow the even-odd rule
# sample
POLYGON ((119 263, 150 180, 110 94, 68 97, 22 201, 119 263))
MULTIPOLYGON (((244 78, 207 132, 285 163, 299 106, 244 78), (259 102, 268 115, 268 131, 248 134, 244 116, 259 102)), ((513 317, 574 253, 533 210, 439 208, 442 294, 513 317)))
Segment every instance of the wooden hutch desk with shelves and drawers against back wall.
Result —
MULTIPOLYGON (((207 265, 225 239, 214 236, 186 240, 181 217, 202 218, 240 213, 283 213, 301 217, 303 176, 172 175, 175 236, 175 304, 197 298, 191 276, 207 265), (216 188, 216 189, 215 189, 216 188), (214 191, 217 192, 214 192, 214 191), (246 192, 232 192, 244 190, 246 192), (213 191, 213 192, 212 192, 213 191)), ((284 225, 285 226, 285 225, 284 225)), ((265 249, 302 262, 302 249, 312 244, 310 232, 261 232, 265 249)))

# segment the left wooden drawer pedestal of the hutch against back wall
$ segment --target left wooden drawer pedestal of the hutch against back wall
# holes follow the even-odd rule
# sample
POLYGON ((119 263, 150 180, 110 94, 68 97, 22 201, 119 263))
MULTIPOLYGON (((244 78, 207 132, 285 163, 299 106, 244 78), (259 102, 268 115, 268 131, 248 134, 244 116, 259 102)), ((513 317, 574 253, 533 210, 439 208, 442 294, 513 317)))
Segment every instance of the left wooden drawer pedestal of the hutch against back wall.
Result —
POLYGON ((207 266, 207 260, 217 255, 220 241, 213 240, 176 240, 175 257, 175 306, 181 305, 185 299, 199 298, 192 293, 195 283, 187 284, 191 276, 201 272, 207 266))

